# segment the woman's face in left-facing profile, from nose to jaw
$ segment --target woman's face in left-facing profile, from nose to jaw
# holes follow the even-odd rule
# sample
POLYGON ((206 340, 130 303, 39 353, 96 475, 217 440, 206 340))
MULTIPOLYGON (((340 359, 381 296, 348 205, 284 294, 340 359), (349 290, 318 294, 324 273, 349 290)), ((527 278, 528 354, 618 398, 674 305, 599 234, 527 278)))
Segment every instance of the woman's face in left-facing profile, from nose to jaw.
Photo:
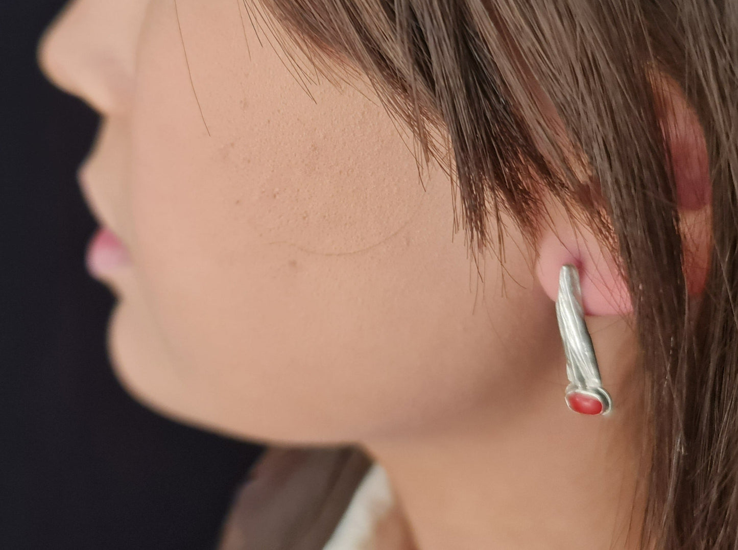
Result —
POLYGON ((541 360, 525 342, 558 338, 514 224, 503 295, 500 261, 480 258, 482 284, 454 236, 448 176, 432 164, 424 190, 368 81, 308 82, 261 27, 241 0, 77 0, 42 41, 49 77, 103 117, 80 173, 131 256, 102 275, 120 379, 177 418, 286 441, 513 399, 511 365, 541 360))

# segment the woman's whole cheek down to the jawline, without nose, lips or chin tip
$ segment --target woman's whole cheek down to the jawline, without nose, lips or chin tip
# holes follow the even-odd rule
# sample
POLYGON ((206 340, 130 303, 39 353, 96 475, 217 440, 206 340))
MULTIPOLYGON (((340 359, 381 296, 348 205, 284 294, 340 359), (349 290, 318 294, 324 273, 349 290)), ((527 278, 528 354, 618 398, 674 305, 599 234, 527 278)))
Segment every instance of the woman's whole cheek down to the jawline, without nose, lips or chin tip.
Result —
MULTIPOLYGON (((367 88, 315 86, 314 103, 255 38, 250 61, 245 47, 224 56, 241 24, 207 21, 238 4, 180 3, 192 81, 173 3, 152 4, 156 32, 142 35, 131 250, 139 309, 171 366, 130 366, 139 387, 159 380, 151 400, 179 416, 293 440, 320 437, 305 427, 349 437, 471 406, 495 344, 483 310, 472 314, 445 174, 424 192, 367 88), (205 4, 208 17, 187 12, 205 4)), ((141 326, 139 309, 121 315, 120 334, 141 326)))

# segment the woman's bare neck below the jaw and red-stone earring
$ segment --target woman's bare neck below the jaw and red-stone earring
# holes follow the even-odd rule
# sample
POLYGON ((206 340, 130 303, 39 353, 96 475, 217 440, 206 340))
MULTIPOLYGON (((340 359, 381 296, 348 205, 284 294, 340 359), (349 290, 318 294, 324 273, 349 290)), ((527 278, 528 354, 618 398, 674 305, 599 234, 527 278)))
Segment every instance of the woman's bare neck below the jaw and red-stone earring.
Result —
MULTIPOLYGON (((622 349, 600 350, 623 359, 622 349)), ((638 391, 620 372, 608 385, 611 416, 571 412, 565 379, 559 387, 544 376, 524 386, 534 396, 524 410, 500 397, 443 429, 365 444, 418 550, 639 548, 642 408, 627 402, 638 391)))

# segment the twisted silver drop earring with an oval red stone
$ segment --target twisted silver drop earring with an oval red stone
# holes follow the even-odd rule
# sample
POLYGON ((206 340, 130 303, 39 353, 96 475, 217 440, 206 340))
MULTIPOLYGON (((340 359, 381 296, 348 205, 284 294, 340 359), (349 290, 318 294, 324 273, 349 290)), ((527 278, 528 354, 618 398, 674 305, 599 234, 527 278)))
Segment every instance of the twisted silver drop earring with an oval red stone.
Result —
POLYGON ((566 354, 566 404, 576 413, 607 414, 613 409, 610 393, 602 388, 592 338, 584 323, 582 286, 576 266, 565 264, 559 272, 556 319, 566 354))

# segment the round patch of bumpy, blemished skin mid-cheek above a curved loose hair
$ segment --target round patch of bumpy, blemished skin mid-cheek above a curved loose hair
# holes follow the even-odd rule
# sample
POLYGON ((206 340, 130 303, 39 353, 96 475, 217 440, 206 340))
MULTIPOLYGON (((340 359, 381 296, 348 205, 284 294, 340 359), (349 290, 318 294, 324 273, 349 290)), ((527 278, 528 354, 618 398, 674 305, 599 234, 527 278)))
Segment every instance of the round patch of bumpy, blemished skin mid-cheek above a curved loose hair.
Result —
MULTIPOLYGON (((232 198, 242 199, 244 220, 266 241, 354 253, 393 236, 421 207, 415 159, 387 115, 355 99, 326 97, 305 105, 301 119, 292 109, 302 102, 284 99, 283 117, 241 140, 249 168, 232 198)), ((258 109, 256 120, 270 110, 258 109)))

